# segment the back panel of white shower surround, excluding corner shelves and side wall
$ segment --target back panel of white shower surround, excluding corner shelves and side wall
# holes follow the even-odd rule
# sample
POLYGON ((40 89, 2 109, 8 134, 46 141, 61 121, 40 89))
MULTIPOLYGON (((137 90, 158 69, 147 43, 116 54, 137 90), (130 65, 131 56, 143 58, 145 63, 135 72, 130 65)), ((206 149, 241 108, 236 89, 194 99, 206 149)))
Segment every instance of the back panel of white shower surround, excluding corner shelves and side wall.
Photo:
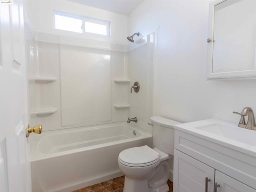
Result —
POLYGON ((37 110, 57 108, 57 112, 37 115, 44 131, 125 121, 128 84, 116 84, 114 78, 127 79, 126 53, 79 46, 37 42, 39 76, 56 81, 37 84, 37 110))

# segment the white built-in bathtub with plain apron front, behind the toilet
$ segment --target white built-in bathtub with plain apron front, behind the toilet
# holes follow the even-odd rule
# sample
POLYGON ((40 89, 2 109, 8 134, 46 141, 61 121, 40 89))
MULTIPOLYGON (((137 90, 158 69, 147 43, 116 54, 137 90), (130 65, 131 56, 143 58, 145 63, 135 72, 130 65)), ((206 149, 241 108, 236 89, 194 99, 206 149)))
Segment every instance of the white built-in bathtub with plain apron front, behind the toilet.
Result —
POLYGON ((118 154, 152 146, 152 136, 128 124, 112 124, 43 132, 30 144, 32 192, 71 192, 121 176, 118 154))

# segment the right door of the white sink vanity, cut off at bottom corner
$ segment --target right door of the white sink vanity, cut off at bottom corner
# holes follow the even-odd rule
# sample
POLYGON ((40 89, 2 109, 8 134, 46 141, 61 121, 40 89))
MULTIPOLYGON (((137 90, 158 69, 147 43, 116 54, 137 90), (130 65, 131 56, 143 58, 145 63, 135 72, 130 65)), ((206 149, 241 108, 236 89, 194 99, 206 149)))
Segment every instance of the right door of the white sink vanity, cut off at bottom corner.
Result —
POLYGON ((256 192, 255 189, 227 176, 216 170, 215 182, 220 186, 217 188, 217 192, 256 192))

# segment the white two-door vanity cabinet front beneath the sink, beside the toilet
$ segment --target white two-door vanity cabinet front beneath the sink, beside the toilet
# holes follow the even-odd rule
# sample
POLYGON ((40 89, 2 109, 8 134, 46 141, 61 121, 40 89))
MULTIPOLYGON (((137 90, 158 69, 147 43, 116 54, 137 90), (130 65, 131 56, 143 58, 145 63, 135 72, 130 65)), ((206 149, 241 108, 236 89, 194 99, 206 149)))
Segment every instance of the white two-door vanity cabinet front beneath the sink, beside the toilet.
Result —
POLYGON ((255 154, 216 142, 185 124, 175 128, 174 192, 256 192, 255 154), (220 186, 214 191, 215 182, 220 186))

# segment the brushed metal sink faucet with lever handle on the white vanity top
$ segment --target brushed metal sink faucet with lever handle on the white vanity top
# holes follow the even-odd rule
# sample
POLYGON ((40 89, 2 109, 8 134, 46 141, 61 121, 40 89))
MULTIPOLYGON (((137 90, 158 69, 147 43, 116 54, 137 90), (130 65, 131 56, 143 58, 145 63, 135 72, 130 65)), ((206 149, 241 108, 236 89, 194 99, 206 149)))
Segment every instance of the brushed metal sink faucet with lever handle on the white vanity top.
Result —
POLYGON ((233 113, 241 115, 241 119, 238 123, 238 127, 256 130, 256 123, 255 123, 255 118, 254 118, 254 113, 252 108, 245 107, 241 113, 234 112, 234 111, 233 113), (245 123, 244 116, 248 116, 247 123, 245 123))

